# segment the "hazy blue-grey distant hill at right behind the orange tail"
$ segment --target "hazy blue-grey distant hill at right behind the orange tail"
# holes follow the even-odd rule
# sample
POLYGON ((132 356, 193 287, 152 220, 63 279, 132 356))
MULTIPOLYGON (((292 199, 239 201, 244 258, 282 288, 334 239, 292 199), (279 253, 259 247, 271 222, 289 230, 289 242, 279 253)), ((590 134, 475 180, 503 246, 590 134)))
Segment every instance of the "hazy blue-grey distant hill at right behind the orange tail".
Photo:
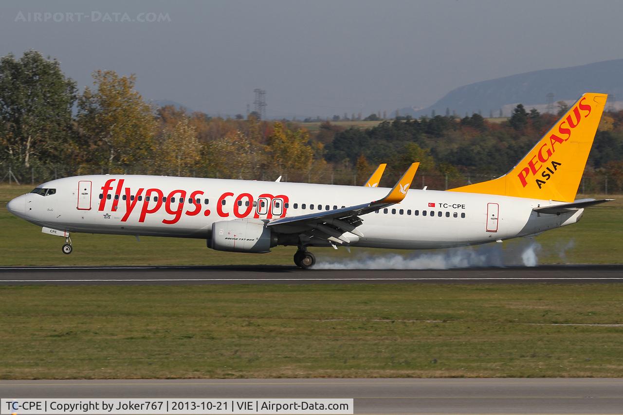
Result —
MULTIPOLYGON (((530 108, 547 102, 546 95, 554 94, 554 103, 558 101, 575 101, 584 92, 603 92, 614 94, 616 100, 623 98, 623 59, 605 60, 594 64, 573 66, 569 68, 535 70, 524 74, 470 83, 464 87, 450 91, 430 107, 413 110, 401 108, 400 115, 430 117, 432 110, 437 115, 445 115, 450 108, 459 117, 465 112, 482 112, 488 117, 490 111, 498 116, 502 107, 523 103, 530 108)), ((513 106, 514 106, 513 105, 513 106)), ((509 115, 508 106, 503 108, 504 115, 509 115)), ((541 108, 538 108, 541 109, 541 108)))

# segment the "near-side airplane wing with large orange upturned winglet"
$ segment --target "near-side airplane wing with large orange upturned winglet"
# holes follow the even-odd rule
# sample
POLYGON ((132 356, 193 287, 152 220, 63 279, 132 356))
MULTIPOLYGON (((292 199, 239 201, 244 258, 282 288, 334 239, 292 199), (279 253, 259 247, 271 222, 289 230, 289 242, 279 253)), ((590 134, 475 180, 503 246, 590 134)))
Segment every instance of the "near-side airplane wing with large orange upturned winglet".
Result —
POLYGON ((342 207, 341 209, 333 209, 331 211, 283 217, 268 222, 267 226, 272 227, 276 232, 285 234, 306 234, 310 237, 315 236, 320 239, 325 239, 331 243, 348 244, 350 240, 348 237, 344 236, 346 232, 351 232, 357 236, 363 237, 363 234, 356 229, 363 222, 363 219, 359 216, 378 209, 383 209, 392 204, 401 203, 402 199, 407 195, 407 191, 409 190, 409 186, 411 186, 419 164, 420 163, 413 163, 409 169, 402 174, 400 180, 383 199, 355 206, 342 207))

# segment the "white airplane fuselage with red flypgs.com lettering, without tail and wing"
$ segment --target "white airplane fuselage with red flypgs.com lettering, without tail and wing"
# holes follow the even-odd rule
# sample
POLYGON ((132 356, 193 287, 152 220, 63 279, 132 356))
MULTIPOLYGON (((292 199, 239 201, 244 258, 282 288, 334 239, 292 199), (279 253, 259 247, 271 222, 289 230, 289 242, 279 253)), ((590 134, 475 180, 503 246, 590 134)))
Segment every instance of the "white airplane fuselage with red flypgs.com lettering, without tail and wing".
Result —
MULTIPOLYGON (((387 188, 139 175, 57 179, 11 201, 17 216, 67 232, 209 239, 212 224, 270 221, 370 203, 387 188), (52 193, 52 192, 47 192, 52 193), (180 201, 181 199, 181 201, 180 201)), ((532 209, 552 201, 492 194, 410 189, 404 200, 361 216, 351 246, 433 249, 528 236, 575 223, 583 209, 551 215, 532 209)), ((283 243, 290 245, 287 239, 283 243)), ((308 246, 329 246, 311 241, 308 246)))

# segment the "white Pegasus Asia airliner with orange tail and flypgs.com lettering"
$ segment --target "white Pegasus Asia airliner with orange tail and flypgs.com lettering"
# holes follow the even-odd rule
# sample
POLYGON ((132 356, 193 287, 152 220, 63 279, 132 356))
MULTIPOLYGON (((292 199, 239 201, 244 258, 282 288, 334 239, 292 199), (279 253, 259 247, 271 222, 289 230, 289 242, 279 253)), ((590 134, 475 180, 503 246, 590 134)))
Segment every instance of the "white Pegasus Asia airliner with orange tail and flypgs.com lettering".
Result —
POLYGON ((139 175, 92 175, 43 183, 7 204, 12 214, 65 237, 70 233, 206 239, 231 252, 297 246, 431 249, 484 244, 566 226, 607 95, 586 93, 507 174, 450 191, 409 189, 413 163, 392 189, 366 186, 139 175), (407 193, 408 192, 408 193, 407 193))

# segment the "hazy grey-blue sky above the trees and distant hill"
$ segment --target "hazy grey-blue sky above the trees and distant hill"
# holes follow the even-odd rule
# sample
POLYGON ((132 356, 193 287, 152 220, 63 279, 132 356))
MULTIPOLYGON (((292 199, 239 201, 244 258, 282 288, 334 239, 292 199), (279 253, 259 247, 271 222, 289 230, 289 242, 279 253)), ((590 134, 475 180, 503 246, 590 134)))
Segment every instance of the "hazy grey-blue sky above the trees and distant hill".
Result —
POLYGON ((619 59, 622 16, 623 2, 594 0, 2 1, 0 55, 57 57, 81 89, 96 69, 135 73, 146 99, 211 115, 245 113, 254 88, 269 117, 368 115, 619 59), (151 12, 164 21, 136 21, 151 12))

